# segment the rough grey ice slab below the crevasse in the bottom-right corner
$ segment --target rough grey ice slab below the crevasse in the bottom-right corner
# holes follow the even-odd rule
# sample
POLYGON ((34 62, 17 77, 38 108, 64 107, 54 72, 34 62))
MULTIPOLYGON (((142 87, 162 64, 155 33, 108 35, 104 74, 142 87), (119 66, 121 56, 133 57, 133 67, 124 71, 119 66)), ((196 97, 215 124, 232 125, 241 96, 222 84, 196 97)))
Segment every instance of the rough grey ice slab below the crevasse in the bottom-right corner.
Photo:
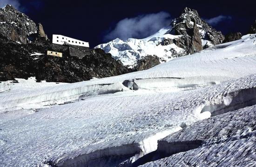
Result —
POLYGON ((158 143, 159 150, 170 153, 183 149, 180 153, 146 163, 143 167, 182 167, 185 165, 254 167, 256 166, 255 112, 256 106, 245 107, 196 122, 158 143), (186 145, 189 146, 189 143, 191 145, 193 142, 195 144, 196 141, 202 142, 201 146, 189 151, 185 150, 186 145))

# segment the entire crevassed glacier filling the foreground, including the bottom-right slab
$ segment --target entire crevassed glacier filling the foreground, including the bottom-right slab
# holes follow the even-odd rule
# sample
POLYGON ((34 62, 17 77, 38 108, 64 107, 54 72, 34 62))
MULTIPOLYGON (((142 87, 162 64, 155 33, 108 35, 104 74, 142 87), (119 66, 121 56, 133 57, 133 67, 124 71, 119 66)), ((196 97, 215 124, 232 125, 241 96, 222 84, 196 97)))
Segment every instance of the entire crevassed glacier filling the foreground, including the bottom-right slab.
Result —
POLYGON ((0 83, 0 166, 256 165, 256 34, 114 77, 18 81, 0 83))

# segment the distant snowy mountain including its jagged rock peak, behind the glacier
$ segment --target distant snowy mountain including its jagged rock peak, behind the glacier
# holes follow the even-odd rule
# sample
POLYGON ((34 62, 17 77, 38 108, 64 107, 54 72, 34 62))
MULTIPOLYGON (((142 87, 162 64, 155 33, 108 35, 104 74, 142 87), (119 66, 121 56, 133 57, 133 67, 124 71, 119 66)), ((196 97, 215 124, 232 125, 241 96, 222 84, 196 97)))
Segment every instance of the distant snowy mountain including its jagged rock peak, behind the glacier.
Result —
POLYGON ((138 69, 138 60, 147 59, 148 55, 158 57, 159 63, 167 62, 221 44, 222 40, 224 37, 221 32, 209 26, 195 10, 185 8, 170 27, 162 28, 145 39, 115 39, 95 48, 102 48, 125 66, 138 69))

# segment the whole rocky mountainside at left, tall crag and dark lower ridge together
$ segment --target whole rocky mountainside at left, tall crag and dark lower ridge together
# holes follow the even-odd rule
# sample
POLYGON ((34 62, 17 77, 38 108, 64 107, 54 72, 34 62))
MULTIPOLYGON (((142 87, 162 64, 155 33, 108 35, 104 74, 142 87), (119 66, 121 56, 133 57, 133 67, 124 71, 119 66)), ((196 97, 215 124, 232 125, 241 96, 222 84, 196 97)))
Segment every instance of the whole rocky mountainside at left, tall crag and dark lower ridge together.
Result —
POLYGON ((40 23, 10 5, 0 9, 0 81, 36 77, 78 82, 128 72, 120 60, 101 49, 54 45, 40 23), (47 50, 61 52, 63 58, 47 56, 47 50))

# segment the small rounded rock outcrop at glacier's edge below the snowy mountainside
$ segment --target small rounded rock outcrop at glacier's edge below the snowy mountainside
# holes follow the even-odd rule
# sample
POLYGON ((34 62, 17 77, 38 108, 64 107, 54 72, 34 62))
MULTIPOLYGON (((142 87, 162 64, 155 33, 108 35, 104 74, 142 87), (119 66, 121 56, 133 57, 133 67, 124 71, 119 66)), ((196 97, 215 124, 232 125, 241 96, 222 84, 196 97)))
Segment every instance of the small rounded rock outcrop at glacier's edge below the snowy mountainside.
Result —
POLYGON ((137 61, 135 71, 142 71, 160 64, 159 57, 148 55, 137 61))

